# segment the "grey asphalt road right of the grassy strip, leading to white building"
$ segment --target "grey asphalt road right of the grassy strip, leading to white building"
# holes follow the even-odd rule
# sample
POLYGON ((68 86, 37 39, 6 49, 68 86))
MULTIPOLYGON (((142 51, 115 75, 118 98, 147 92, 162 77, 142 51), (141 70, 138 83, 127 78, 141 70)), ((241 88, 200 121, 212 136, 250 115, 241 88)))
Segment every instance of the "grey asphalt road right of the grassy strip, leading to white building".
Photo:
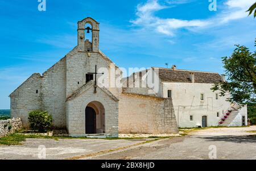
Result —
POLYGON ((256 127, 211 128, 86 159, 256 159, 256 127))

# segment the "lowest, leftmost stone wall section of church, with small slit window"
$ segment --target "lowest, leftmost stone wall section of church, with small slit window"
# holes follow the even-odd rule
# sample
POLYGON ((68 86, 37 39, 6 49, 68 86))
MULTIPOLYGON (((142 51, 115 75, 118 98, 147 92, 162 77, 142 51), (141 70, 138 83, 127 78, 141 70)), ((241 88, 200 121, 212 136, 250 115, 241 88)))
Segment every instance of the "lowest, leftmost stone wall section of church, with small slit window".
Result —
POLYGON ((23 127, 28 127, 28 112, 42 109, 42 77, 40 74, 32 74, 12 94, 11 116, 20 118, 23 127))

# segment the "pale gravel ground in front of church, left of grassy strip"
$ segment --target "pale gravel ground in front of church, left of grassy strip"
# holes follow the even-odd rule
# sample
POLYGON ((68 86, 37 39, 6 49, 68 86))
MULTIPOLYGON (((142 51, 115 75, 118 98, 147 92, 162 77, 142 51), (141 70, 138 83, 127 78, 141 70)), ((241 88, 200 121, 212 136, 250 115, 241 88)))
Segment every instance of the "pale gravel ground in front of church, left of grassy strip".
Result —
MULTIPOLYGON (((37 160, 44 155, 42 147, 46 147, 46 159, 69 159, 74 156, 88 155, 101 151, 108 151, 110 149, 126 147, 142 143, 146 140, 147 139, 27 139, 23 145, 0 145, 0 160, 37 160)), ((44 157, 42 159, 44 159, 44 157)))

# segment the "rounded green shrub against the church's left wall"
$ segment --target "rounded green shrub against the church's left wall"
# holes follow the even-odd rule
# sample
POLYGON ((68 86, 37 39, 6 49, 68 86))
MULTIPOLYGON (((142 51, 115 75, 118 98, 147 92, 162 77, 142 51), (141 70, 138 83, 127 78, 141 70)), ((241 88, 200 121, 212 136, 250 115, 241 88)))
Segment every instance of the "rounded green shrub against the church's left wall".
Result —
POLYGON ((47 111, 35 110, 28 114, 28 122, 32 130, 46 132, 52 128, 52 116, 47 111))

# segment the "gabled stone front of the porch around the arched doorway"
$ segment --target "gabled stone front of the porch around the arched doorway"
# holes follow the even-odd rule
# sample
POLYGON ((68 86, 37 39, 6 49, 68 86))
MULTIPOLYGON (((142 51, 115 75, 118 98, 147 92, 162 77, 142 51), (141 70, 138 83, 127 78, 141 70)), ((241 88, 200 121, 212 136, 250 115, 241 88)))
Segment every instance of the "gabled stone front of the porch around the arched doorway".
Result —
POLYGON ((105 133, 108 137, 118 137, 118 101, 94 86, 81 95, 67 101, 68 132, 70 136, 85 136, 85 109, 90 102, 100 102, 105 109, 105 133))

